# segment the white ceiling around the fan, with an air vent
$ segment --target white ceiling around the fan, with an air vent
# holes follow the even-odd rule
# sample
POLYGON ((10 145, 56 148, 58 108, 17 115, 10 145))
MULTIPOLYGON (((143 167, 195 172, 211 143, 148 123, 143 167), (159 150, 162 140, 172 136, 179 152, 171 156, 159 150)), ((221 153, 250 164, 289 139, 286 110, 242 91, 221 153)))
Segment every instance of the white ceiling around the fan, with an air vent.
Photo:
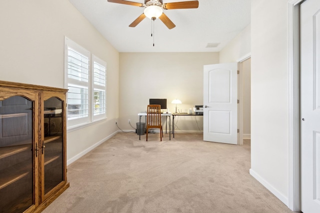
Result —
MULTIPOLYGON (((199 0, 198 8, 163 10, 176 26, 168 29, 156 19, 151 37, 148 18, 128 26, 144 7, 107 0, 69 1, 119 52, 218 52, 250 23, 250 0, 199 0), (220 44, 206 48, 207 43, 220 44)), ((176 1, 187 0, 163 3, 176 1)))

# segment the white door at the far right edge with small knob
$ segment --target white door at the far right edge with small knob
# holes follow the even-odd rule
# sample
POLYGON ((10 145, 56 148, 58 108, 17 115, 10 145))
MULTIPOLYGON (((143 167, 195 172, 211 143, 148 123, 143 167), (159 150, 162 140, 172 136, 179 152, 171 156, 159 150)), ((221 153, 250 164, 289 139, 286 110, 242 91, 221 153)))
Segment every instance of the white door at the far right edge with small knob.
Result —
POLYGON ((300 6, 301 211, 320 213, 320 1, 300 6))

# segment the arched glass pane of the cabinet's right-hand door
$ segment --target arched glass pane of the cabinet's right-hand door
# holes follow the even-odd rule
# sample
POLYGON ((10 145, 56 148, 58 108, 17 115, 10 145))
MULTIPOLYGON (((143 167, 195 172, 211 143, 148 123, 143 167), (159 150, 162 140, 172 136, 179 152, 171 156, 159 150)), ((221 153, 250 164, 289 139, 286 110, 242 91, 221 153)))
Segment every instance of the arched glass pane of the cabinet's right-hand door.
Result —
POLYGON ((44 101, 44 194, 63 181, 63 102, 52 97, 44 101))

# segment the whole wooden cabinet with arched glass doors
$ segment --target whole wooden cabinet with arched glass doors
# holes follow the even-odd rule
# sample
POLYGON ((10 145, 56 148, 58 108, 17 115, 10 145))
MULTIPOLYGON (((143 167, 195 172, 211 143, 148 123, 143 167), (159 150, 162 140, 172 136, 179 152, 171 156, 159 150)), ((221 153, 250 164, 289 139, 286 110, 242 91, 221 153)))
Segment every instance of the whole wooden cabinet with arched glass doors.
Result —
POLYGON ((0 213, 41 212, 69 187, 66 91, 0 81, 0 213))

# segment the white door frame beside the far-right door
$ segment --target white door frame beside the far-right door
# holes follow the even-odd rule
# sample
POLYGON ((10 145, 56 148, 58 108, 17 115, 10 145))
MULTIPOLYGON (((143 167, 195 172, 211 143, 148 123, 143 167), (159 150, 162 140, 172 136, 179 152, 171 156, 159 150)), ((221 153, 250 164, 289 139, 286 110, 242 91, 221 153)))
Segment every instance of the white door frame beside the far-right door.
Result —
POLYGON ((288 0, 288 208, 300 212, 300 4, 288 0))

